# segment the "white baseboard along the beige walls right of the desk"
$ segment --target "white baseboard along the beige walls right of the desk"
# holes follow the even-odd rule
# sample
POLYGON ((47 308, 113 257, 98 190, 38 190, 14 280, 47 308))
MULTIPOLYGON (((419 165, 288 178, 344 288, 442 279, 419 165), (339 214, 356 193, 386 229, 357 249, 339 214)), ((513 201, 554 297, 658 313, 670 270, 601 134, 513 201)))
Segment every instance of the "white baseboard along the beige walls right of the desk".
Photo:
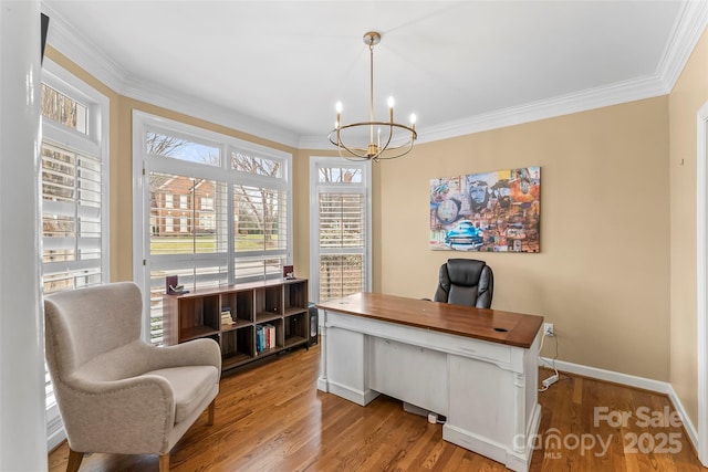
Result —
POLYGON ((676 412, 679 415, 684 429, 688 434, 695 450, 698 450, 698 431, 690 421, 684 405, 678 399, 676 391, 671 384, 666 381, 653 380, 645 377, 637 377, 628 374, 616 373, 613 370, 598 369, 596 367, 582 366, 580 364, 566 363, 563 360, 553 360, 548 357, 539 357, 539 367, 553 368, 568 374, 576 374, 584 377, 594 378, 597 380, 611 381, 614 384, 626 385, 627 387, 641 388, 644 390, 656 391, 658 394, 665 394, 674 405, 676 412))

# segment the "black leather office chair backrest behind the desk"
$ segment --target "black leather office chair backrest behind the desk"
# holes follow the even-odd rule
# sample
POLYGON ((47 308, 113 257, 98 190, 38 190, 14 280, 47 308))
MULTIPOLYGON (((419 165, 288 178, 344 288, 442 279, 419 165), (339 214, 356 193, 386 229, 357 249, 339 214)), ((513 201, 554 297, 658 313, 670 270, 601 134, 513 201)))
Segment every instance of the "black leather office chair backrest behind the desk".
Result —
POLYGON ((448 259, 440 266, 440 280, 434 301, 489 308, 493 290, 493 274, 485 261, 448 259))

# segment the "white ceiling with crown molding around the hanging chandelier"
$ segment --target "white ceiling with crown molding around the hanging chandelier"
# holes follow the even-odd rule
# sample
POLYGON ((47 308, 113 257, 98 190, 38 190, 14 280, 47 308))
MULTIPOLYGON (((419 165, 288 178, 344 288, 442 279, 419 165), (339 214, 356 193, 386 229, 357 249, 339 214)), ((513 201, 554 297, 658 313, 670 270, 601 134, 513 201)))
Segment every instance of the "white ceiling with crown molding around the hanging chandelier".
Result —
POLYGON ((666 94, 702 28, 694 1, 45 0, 49 42, 116 92, 298 147, 368 117, 420 140, 666 94))

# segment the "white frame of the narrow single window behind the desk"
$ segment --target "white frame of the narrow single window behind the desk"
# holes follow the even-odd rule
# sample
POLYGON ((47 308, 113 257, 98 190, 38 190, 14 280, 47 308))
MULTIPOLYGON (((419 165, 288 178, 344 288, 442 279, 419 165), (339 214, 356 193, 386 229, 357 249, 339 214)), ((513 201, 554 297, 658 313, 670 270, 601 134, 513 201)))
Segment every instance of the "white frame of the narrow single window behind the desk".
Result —
POLYGON ((320 192, 356 193, 365 196, 365 248, 363 251, 364 291, 372 290, 372 162, 353 161, 341 157, 313 156, 310 158, 310 300, 320 302, 320 192), (327 167, 361 169, 362 182, 320 182, 320 169, 327 167))

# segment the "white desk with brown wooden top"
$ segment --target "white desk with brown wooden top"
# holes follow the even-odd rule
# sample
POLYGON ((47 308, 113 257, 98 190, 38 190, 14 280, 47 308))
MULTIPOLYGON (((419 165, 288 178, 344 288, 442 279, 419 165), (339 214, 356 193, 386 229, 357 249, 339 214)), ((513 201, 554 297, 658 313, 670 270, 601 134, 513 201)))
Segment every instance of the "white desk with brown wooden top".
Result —
POLYGON ((541 316, 373 293, 316 306, 320 390, 362 406, 385 394, 437 412, 446 441, 529 470, 541 316))

